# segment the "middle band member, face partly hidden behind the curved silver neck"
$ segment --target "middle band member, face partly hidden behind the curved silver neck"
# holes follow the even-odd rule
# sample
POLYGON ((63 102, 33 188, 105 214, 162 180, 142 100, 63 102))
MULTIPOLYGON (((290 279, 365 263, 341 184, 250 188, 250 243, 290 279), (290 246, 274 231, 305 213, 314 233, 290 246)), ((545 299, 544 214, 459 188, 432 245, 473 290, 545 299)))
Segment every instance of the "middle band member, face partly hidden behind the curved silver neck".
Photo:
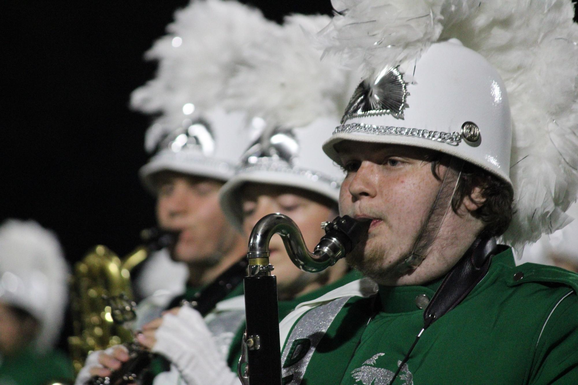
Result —
MULTIPOLYGON (((281 212, 306 230, 305 242, 313 249, 325 234, 321 222, 338 213, 343 171, 324 157, 321 138, 339 121, 349 73, 335 62, 318 61, 319 51, 303 33, 328 21, 323 16, 288 17, 280 36, 247 48, 229 83, 227 106, 265 122, 220 192, 225 215, 247 235, 262 216, 281 212)), ((272 238, 270 250, 280 319, 299 303, 359 278, 344 263, 325 274, 299 270, 280 237, 272 238)), ((143 344, 169 357, 188 385, 236 384, 244 328, 244 298, 239 296, 217 304, 205 320, 187 307, 167 313, 143 327, 143 344)))

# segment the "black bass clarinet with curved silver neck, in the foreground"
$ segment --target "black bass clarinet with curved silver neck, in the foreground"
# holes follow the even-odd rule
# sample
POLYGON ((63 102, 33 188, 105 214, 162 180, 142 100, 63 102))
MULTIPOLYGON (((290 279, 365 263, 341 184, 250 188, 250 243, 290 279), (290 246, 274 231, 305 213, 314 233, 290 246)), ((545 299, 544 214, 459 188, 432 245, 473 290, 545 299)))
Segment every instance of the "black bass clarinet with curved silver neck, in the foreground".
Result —
POLYGON ((283 244, 295 266, 303 271, 320 272, 346 256, 366 236, 371 221, 338 216, 323 222, 325 236, 313 253, 307 249, 299 228, 286 215, 269 214, 257 222, 249 237, 248 272, 244 278, 246 331, 238 375, 243 385, 281 385, 281 348, 277 281, 271 275, 269 241, 274 234, 283 244))

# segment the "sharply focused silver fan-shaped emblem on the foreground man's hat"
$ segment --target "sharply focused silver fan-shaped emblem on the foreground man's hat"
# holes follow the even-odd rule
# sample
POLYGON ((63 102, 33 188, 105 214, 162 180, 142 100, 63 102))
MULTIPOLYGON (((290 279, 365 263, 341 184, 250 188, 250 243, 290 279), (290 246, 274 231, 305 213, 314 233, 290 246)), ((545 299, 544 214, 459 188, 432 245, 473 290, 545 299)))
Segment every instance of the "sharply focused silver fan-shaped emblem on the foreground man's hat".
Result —
POLYGON ((403 110, 409 107, 407 95, 407 83, 398 67, 385 68, 375 80, 365 79, 357 86, 341 122, 343 124, 354 117, 385 114, 403 119, 403 110))

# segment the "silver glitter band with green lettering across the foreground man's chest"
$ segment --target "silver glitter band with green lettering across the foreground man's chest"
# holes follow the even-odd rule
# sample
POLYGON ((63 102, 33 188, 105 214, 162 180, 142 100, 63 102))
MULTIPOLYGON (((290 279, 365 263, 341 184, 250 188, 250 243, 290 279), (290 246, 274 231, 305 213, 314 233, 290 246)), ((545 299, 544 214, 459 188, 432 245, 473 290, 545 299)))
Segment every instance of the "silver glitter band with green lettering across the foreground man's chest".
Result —
POLYGON ((291 375, 293 376, 291 381, 287 382, 285 385, 301 384, 303 375, 305 375, 305 371, 307 370, 307 365, 309 365, 309 361, 311 360, 317 345, 327 332, 329 326, 331 326, 335 317, 341 311, 346 302, 349 301, 349 298, 351 297, 342 297, 331 301, 328 304, 317 306, 305 313, 299 322, 295 324, 295 327, 291 331, 291 335, 287 339, 285 349, 283 350, 281 364, 286 362, 287 355, 295 340, 306 338, 309 339, 311 345, 301 360, 295 362, 295 364, 290 367, 283 368, 283 378, 291 375))

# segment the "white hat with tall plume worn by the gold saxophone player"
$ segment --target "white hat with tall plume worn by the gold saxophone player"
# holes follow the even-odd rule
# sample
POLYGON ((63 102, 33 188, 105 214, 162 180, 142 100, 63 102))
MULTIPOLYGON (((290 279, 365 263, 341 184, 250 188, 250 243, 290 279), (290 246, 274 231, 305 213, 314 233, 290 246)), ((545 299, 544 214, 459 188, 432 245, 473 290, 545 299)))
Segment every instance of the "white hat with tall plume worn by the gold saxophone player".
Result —
POLYGON ((155 79, 131 96, 134 109, 157 115, 145 138, 152 156, 139 171, 147 188, 161 170, 232 177, 251 138, 245 115, 223 109, 224 90, 246 46, 278 28, 236 1, 195 0, 175 13, 146 53, 158 61, 155 79))

